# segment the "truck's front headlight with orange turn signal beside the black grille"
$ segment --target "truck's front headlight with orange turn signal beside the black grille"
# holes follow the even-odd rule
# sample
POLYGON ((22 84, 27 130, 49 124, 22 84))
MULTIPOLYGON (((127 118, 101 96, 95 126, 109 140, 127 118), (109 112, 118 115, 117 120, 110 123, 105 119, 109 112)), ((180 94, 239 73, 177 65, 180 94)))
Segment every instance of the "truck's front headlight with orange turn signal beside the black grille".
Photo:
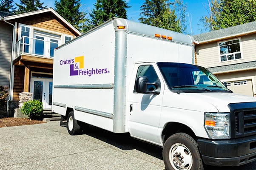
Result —
POLYGON ((230 139, 230 113, 205 113, 205 129, 211 139, 230 139))

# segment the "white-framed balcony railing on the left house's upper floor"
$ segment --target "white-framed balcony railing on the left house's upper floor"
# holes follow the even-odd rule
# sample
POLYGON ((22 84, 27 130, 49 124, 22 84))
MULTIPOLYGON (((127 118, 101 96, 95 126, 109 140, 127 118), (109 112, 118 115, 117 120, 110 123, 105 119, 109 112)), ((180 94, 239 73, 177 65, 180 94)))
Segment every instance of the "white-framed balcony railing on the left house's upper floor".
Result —
MULTIPOLYGON (((41 37, 40 37, 41 38, 41 37)), ((60 46, 60 40, 51 39, 51 38, 32 38, 23 36, 16 44, 16 54, 15 58, 21 55, 33 55, 39 57, 53 57, 54 49, 60 46), (45 40, 47 39, 47 40, 45 40)))

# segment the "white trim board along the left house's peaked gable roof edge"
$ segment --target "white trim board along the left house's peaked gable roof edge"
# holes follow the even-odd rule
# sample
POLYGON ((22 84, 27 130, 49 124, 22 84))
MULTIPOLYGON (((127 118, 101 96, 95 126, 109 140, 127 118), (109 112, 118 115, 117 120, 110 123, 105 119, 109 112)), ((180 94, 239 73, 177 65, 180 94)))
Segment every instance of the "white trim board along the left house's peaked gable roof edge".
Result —
POLYGON ((41 14, 44 12, 52 12, 56 17, 58 17, 61 21, 63 21, 63 23, 65 23, 68 27, 70 27, 72 30, 74 30, 78 35, 82 34, 80 31, 77 30, 77 28, 72 26, 70 23, 68 23, 68 21, 66 21, 63 17, 61 17, 60 14, 58 14, 56 11, 54 11, 53 8, 46 8, 46 9, 41 9, 38 11, 32 11, 32 12, 27 12, 27 13, 23 13, 23 14, 11 15, 8 17, 4 17, 3 20, 4 21, 13 20, 13 19, 21 18, 21 17, 27 17, 27 16, 31 16, 31 15, 35 15, 35 14, 41 14))

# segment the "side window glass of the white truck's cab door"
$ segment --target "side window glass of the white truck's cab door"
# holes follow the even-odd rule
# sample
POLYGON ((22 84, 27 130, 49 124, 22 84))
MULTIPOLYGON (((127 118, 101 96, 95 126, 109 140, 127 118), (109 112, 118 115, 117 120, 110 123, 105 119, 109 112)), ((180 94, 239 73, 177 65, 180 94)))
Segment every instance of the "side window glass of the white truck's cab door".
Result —
MULTIPOLYGON (((148 77, 148 82, 159 81, 156 71, 152 65, 141 65, 138 68, 136 79, 140 76, 148 77)), ((154 85, 148 85, 148 91, 154 91, 156 88, 154 85)))

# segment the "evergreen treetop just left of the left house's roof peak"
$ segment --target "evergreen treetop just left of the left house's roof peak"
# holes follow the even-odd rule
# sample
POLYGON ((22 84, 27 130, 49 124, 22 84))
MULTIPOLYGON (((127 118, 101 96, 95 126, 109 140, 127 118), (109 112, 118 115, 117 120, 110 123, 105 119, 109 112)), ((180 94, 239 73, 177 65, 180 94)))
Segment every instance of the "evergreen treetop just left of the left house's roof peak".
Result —
POLYGON ((20 0, 20 4, 15 3, 18 7, 16 14, 22 14, 25 12, 37 11, 40 9, 45 9, 47 6, 43 6, 40 0, 20 0))

